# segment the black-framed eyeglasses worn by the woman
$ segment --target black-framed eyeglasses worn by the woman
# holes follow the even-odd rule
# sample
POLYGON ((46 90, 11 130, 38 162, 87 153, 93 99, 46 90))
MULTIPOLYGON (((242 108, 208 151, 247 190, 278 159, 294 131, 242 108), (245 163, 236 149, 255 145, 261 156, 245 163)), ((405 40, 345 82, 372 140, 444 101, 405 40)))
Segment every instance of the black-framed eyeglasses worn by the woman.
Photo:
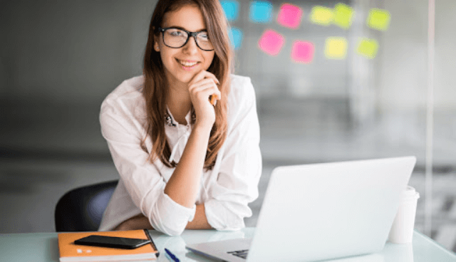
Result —
POLYGON ((199 49, 204 51, 214 50, 214 46, 212 46, 207 31, 190 32, 177 27, 159 27, 158 30, 162 32, 163 43, 165 43, 165 46, 167 47, 181 48, 187 44, 190 36, 193 36, 199 49))

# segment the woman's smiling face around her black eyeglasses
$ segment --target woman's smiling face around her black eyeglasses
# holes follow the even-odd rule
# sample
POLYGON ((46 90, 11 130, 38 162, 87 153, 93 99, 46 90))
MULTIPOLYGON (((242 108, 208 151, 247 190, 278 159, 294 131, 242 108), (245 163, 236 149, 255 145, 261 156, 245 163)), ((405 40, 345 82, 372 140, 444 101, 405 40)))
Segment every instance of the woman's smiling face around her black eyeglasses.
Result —
MULTIPOLYGON (((196 5, 182 6, 177 11, 165 14, 162 28, 177 27, 198 32, 206 29, 201 11, 196 5)), ((185 46, 170 48, 163 43, 162 33, 154 43, 155 51, 160 52, 165 75, 170 85, 187 84, 202 70, 207 70, 214 59, 214 51, 203 51, 190 37, 185 46)), ((185 85, 186 86, 186 85, 185 85)))

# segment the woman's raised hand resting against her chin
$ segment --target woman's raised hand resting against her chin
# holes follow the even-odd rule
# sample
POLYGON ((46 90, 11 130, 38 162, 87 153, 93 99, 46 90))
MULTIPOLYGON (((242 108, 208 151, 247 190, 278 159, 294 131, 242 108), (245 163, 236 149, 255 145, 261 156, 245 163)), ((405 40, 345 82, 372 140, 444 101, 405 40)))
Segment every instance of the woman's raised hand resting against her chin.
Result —
POLYGON ((211 104, 209 97, 217 100, 222 98, 219 88, 219 80, 205 70, 197 73, 188 83, 190 99, 192 100, 195 115, 197 117, 195 125, 212 128, 215 122, 214 105, 211 104))

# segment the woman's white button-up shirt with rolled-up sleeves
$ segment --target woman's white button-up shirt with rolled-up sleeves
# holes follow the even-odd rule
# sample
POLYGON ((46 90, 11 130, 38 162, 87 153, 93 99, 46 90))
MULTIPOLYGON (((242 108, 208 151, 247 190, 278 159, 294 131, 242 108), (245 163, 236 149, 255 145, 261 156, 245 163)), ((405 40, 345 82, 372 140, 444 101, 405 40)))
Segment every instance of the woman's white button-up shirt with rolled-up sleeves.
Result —
MULTIPOLYGON (((112 230, 123 221, 144 214, 154 229, 179 235, 195 216, 195 206, 181 206, 164 193, 175 168, 166 167, 159 159, 153 164, 147 160, 152 150, 149 136, 145 148, 140 146, 146 137, 143 83, 143 76, 125 80, 101 105, 101 132, 120 179, 99 230, 112 230)), ((258 197, 261 175, 259 123, 250 78, 231 75, 229 96, 222 99, 228 100, 227 139, 214 168, 207 172, 202 169, 195 204, 204 204, 207 221, 214 229, 237 230, 245 226, 244 217, 252 216, 248 204, 258 197)), ((190 112, 185 118, 187 123, 192 122, 190 112)), ((170 158, 179 162, 192 125, 180 125, 174 118, 172 122, 175 126, 167 125, 165 120, 163 125, 172 150, 170 158)))

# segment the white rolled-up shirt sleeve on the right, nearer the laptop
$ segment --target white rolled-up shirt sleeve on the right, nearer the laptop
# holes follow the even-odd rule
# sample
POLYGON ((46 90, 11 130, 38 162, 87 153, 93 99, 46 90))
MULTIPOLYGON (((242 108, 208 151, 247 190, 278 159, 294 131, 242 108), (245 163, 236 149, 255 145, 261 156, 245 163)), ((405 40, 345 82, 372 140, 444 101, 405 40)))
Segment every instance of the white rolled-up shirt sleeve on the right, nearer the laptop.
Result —
POLYGON ((229 125, 217 179, 210 184, 209 199, 204 202, 207 221, 217 230, 242 229, 244 217, 252 216, 248 204, 258 197, 261 152, 257 103, 249 78, 244 78, 240 88, 234 103, 229 101, 234 121, 229 125))

